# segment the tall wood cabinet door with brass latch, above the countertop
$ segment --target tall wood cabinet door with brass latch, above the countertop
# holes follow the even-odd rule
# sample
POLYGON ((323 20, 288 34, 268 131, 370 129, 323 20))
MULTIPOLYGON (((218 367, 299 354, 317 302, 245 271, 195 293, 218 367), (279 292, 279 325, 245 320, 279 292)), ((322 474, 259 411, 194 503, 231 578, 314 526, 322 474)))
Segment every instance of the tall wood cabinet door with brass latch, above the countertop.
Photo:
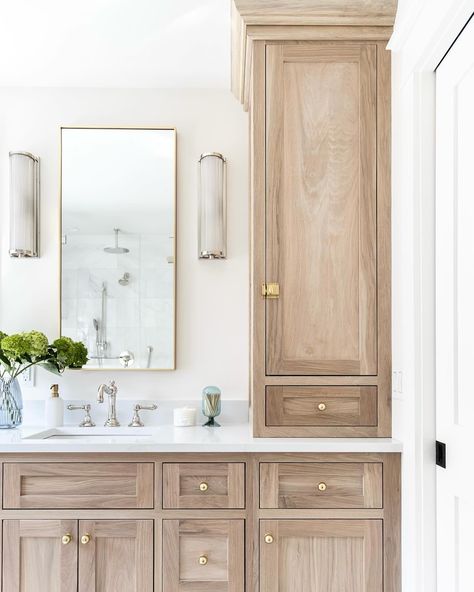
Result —
POLYGON ((377 373, 376 50, 266 47, 267 375, 377 373))

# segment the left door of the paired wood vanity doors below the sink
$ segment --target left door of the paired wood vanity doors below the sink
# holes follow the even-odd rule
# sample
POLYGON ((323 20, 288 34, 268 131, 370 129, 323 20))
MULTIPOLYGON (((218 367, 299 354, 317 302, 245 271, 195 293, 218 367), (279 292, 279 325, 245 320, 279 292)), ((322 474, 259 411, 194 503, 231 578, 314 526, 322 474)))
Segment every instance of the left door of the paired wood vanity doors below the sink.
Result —
POLYGON ((76 592, 76 520, 4 520, 5 592, 76 592))

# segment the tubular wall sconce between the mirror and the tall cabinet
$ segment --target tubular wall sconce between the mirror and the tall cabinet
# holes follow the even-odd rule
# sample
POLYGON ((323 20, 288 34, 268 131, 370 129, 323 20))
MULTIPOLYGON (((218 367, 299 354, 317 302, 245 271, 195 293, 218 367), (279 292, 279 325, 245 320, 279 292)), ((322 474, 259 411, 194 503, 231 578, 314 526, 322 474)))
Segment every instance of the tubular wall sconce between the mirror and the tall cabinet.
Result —
POLYGON ((227 251, 226 160, 218 152, 199 159, 199 258, 225 259, 227 251))

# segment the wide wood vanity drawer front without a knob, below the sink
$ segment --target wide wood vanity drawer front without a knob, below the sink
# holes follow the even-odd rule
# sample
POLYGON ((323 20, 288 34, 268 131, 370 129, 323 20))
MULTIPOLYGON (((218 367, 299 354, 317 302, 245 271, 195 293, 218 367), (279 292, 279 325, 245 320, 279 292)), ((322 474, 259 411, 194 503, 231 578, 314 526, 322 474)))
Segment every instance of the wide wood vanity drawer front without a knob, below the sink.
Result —
POLYGON ((3 507, 153 508, 153 463, 5 463, 3 507))

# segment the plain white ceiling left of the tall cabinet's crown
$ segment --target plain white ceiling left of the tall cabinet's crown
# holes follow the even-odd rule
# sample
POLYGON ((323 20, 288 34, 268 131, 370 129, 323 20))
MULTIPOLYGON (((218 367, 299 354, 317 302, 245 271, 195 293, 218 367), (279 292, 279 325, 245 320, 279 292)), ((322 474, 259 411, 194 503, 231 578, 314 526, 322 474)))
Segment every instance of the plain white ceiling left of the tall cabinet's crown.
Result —
POLYGON ((229 80, 230 0, 0 0, 0 86, 229 80))

